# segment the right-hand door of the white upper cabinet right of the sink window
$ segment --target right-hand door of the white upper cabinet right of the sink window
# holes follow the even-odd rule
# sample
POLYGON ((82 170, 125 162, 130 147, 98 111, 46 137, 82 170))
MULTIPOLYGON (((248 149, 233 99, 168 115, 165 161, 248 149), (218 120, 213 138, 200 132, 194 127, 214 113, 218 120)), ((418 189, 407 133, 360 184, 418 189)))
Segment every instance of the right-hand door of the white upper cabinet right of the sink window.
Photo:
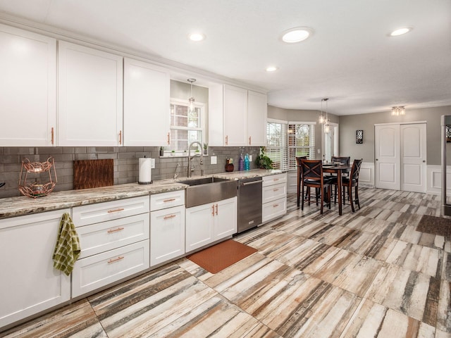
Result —
POLYGON ((266 146, 266 115, 268 102, 266 94, 247 92, 247 144, 266 146))

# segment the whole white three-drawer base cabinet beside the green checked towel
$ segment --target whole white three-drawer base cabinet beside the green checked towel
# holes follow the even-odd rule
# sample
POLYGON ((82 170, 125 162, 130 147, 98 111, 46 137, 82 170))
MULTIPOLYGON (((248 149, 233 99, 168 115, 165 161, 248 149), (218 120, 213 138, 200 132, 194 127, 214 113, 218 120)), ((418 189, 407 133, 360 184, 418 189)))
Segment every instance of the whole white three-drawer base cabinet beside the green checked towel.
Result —
POLYGON ((75 207, 73 222, 82 248, 73 297, 149 268, 149 196, 75 207))

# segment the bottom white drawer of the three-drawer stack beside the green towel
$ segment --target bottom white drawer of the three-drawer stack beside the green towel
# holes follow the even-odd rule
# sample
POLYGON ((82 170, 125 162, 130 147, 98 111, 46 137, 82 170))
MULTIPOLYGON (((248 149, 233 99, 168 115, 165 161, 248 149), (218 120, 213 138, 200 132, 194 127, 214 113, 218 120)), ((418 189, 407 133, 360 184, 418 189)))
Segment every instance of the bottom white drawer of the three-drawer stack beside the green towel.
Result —
POLYGON ((149 268, 149 240, 83 258, 72 272, 72 296, 80 296, 149 268))

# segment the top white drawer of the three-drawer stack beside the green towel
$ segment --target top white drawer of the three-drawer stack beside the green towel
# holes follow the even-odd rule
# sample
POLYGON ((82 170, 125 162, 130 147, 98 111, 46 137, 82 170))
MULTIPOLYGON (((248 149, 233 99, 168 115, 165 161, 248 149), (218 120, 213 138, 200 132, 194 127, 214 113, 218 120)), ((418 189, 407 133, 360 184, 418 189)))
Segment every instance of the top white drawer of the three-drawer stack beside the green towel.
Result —
POLYGON ((72 208, 72 220, 75 227, 116 220, 140 213, 149 212, 149 196, 120 199, 118 201, 89 204, 72 208))

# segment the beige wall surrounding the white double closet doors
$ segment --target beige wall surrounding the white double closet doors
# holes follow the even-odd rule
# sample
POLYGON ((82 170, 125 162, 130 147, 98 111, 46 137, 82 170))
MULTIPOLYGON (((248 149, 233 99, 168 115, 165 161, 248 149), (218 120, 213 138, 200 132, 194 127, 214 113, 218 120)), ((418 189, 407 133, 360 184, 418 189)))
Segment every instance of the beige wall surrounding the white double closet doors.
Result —
MULTIPOLYGON (((451 115, 451 106, 434 108, 406 108, 406 115, 392 116, 390 111, 360 115, 340 116, 340 155, 363 158, 374 162, 374 125, 376 123, 404 123, 426 121, 427 164, 440 165, 440 116, 451 115), (355 143, 356 130, 364 130, 364 143, 355 143)), ((451 146, 447 158, 451 158, 451 146)))

